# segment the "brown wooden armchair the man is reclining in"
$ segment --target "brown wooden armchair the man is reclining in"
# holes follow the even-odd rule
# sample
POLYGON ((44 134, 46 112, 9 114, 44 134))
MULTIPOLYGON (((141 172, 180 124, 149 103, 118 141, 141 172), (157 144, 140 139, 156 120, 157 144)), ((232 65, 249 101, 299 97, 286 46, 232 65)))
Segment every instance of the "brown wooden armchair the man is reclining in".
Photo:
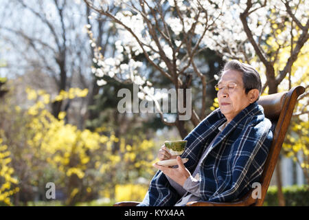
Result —
MULTIPOLYGON (((266 163, 264 165, 264 171, 262 173, 261 183, 261 197, 260 199, 253 199, 251 196, 253 190, 247 193, 239 201, 218 203, 208 201, 190 201, 186 206, 262 206, 268 190, 277 159, 288 131, 290 119, 293 115, 293 110, 298 96, 303 94, 304 87, 293 87, 288 92, 281 92, 277 94, 271 94, 268 96, 261 96, 258 100, 258 104, 264 108, 264 114, 266 118, 271 120, 273 131, 273 143, 271 145, 266 163)), ((114 206, 137 206, 137 201, 122 201, 115 203, 114 206)))

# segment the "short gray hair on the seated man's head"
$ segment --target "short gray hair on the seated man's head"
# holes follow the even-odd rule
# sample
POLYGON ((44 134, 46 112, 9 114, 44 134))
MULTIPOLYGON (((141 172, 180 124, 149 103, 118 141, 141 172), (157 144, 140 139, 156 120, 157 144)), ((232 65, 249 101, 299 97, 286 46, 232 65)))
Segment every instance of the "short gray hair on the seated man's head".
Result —
POLYGON ((234 70, 242 74, 242 83, 244 83, 245 93, 248 94, 251 89, 259 90, 259 97, 262 91, 262 82, 260 74, 251 65, 246 63, 240 63, 239 61, 232 60, 225 64, 220 71, 219 77, 221 78, 223 72, 227 70, 234 70))

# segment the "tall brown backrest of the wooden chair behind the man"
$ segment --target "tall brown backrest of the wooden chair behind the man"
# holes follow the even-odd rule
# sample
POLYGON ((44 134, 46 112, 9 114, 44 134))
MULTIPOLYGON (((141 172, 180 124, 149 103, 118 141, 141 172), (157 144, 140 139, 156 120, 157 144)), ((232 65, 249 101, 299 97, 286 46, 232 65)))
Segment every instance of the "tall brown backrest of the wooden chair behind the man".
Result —
MULTIPOLYGON (((298 96, 303 94, 304 87, 293 87, 288 92, 281 92, 277 94, 271 94, 268 96, 261 96, 258 100, 258 104, 264 108, 264 115, 271 120, 273 130, 273 143, 271 144, 268 157, 264 164, 264 171, 261 178, 261 197, 257 199, 253 206, 262 206, 268 190, 277 159, 288 131, 288 126, 293 115, 293 110, 298 96)), ((247 199, 253 199, 251 195, 247 199)))

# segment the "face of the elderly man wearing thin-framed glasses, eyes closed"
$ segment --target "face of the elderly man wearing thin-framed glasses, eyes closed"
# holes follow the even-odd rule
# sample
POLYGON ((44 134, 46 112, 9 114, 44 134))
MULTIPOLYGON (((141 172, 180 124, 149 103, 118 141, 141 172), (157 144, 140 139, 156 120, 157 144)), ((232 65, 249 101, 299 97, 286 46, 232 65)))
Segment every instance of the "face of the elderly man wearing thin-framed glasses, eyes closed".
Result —
POLYGON ((217 97, 220 111, 227 118, 227 122, 231 122, 242 109, 251 103, 249 96, 244 93, 242 74, 228 69, 222 74, 218 85, 217 97), (233 87, 235 85, 236 87, 233 87))

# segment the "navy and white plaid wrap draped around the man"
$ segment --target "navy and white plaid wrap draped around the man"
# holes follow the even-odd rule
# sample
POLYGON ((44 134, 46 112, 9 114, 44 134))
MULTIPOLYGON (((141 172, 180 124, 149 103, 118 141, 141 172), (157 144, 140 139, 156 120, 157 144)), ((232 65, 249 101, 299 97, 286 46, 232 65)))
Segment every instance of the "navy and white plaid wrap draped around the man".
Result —
MULTIPOLYGON (((218 108, 185 137, 187 147, 181 157, 189 158, 185 167, 190 173, 226 121, 218 108)), ((247 194, 260 180, 272 140, 271 122, 264 117, 264 109, 257 102, 249 104, 227 124, 203 158, 199 173, 201 199, 227 202, 247 194)), ((139 206, 174 206, 180 198, 159 170, 139 206)))

